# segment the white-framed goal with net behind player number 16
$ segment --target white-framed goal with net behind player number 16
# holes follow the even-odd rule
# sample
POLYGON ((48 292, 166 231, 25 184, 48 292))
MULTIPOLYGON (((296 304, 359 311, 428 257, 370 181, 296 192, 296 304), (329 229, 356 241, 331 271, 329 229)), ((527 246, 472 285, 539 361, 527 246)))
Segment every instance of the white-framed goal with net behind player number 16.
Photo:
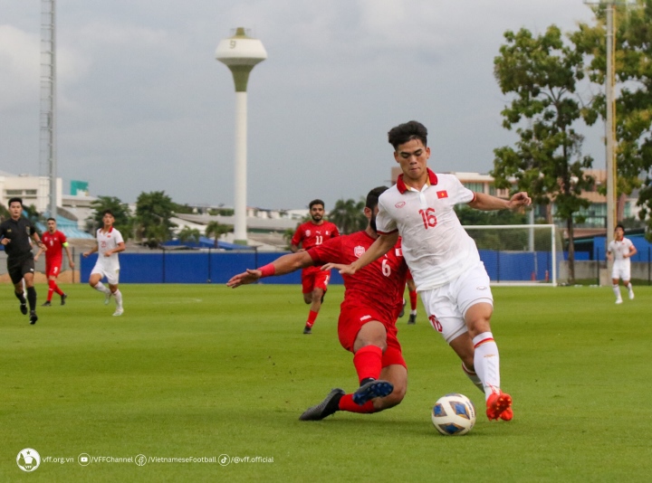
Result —
POLYGON ((563 259, 553 224, 465 225, 492 284, 557 285, 563 259))

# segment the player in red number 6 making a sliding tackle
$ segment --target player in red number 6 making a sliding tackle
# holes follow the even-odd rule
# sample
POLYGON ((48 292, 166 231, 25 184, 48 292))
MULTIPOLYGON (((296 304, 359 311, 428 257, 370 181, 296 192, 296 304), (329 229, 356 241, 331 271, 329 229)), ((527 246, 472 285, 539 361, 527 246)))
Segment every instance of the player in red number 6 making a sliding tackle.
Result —
MULTIPOLYGON (((235 275, 226 285, 235 288, 305 267, 357 260, 378 237, 378 198, 386 189, 380 186, 367 195, 364 213, 369 223, 364 231, 324 241, 308 251, 283 255, 260 269, 235 275)), ((303 412, 300 420, 319 421, 337 411, 379 412, 403 400, 408 369, 398 344, 396 319, 403 306, 407 270, 398 241, 393 251, 359 270, 354 277, 343 277, 346 290, 340 306, 338 335, 341 346, 353 353, 360 387, 355 393, 333 389, 321 403, 303 412)))

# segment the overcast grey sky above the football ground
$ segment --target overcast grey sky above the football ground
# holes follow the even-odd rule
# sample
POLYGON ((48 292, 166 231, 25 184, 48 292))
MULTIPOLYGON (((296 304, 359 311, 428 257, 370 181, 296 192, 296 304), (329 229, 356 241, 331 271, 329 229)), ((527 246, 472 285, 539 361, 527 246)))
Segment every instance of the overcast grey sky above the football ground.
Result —
MULTIPOLYGON (((510 101, 503 33, 593 23, 583 0, 59 0, 57 173, 94 196, 233 206, 236 27, 267 51, 248 85, 247 205, 360 199, 397 166, 390 128, 428 128, 440 172, 488 173, 510 101)), ((41 2, 0 0, 0 170, 38 175, 41 2)), ((604 128, 584 153, 604 166, 604 128)))

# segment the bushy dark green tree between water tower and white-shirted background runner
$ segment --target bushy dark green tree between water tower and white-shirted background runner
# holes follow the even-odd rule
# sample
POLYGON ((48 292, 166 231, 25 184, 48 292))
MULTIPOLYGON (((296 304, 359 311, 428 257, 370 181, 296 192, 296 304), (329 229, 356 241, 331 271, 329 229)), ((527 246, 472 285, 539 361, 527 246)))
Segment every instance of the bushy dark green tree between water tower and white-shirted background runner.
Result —
POLYGON ((175 204, 165 191, 141 193, 136 200, 136 233, 139 240, 155 247, 172 238, 172 229, 177 225, 170 218, 174 216, 175 204))

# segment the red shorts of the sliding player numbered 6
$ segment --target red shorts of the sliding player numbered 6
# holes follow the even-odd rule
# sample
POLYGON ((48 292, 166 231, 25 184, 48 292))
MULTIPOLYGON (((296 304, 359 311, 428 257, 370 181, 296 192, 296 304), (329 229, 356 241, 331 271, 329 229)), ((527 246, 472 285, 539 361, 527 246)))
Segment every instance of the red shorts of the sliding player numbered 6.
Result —
POLYGON ((341 346, 352 353, 360 328, 372 320, 379 321, 387 330, 388 347, 383 353, 382 366, 402 365, 407 368, 401 346, 398 343, 396 324, 393 321, 388 322, 387 317, 383 317, 379 311, 373 308, 345 307, 342 304, 340 319, 338 320, 338 336, 340 337, 341 346))

